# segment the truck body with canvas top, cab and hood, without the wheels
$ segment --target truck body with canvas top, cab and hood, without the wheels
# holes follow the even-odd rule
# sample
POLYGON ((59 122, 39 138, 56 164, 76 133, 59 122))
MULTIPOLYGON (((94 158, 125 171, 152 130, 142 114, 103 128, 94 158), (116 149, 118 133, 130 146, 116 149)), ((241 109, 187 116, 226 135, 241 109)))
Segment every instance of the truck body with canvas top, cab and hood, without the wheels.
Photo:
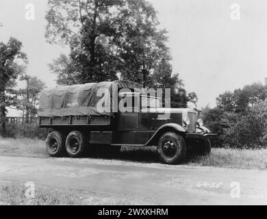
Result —
POLYGON ((142 106, 143 98, 154 97, 147 96, 140 88, 138 83, 131 81, 114 81, 44 90, 40 94, 39 126, 66 135, 79 131, 86 135, 89 145, 154 146, 164 133, 171 131, 182 136, 189 148, 189 142, 216 136, 197 125, 194 110, 142 106), (97 95, 102 88, 110 92, 110 96, 97 95), (120 112, 117 107, 123 98, 120 96, 127 96, 126 93, 120 94, 120 90, 125 88, 131 91, 128 92, 130 97, 139 101, 130 112, 120 112), (99 112, 97 108, 100 99, 110 103, 106 104, 108 110, 105 112, 99 112), (167 110, 168 116, 162 118, 167 110), (185 118, 190 121, 188 125, 184 122, 185 118))

